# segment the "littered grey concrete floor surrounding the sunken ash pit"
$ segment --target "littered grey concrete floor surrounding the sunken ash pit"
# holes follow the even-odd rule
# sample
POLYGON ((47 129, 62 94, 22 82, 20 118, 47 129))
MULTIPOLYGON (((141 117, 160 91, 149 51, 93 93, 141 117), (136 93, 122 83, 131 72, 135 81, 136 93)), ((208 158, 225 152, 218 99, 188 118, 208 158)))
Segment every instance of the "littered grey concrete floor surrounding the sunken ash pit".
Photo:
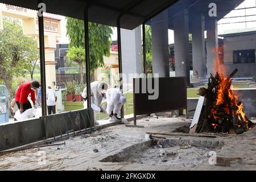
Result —
MULTIPOLYGON (((208 160, 191 167, 170 167, 164 164, 148 165, 129 162, 111 163, 100 162, 109 155, 117 154, 123 149, 145 141, 145 132, 170 133, 177 127, 191 123, 191 120, 179 118, 159 119, 147 117, 138 119, 137 125, 144 128, 116 125, 98 130, 96 137, 82 135, 65 140, 65 146, 50 146, 18 151, 0 156, 0 170, 255 170, 256 169, 256 129, 241 135, 217 135, 224 146, 217 152, 217 156, 239 157, 242 163, 232 164, 231 167, 210 165, 208 160), (97 149, 98 152, 93 150, 97 149), (40 163, 45 154, 44 164, 40 163)), ((199 139, 198 137, 170 137, 172 139, 199 139)), ((205 139, 205 138, 204 138, 205 139)), ((58 142, 58 143, 63 143, 58 142)), ((197 154, 194 154, 197 155, 197 154)))

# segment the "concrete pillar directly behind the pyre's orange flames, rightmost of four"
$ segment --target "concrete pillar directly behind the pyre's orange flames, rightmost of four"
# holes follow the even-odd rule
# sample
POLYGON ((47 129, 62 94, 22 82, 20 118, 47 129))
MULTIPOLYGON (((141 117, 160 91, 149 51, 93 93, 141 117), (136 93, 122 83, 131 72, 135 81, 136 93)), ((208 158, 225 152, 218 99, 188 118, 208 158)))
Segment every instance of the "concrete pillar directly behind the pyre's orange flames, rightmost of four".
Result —
POLYGON ((218 26, 216 19, 205 20, 207 30, 207 77, 218 71, 218 26))

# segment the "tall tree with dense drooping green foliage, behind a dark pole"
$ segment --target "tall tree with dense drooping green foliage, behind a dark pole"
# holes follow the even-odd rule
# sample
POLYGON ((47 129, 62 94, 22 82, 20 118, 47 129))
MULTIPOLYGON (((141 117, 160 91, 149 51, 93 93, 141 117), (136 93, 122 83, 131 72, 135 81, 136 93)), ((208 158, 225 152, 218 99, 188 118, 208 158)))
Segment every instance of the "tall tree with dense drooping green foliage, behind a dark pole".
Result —
MULTIPOLYGON (((84 47, 84 20, 66 18, 69 47, 84 47)), ((112 27, 89 22, 90 72, 104 66, 104 56, 110 56, 112 27)))

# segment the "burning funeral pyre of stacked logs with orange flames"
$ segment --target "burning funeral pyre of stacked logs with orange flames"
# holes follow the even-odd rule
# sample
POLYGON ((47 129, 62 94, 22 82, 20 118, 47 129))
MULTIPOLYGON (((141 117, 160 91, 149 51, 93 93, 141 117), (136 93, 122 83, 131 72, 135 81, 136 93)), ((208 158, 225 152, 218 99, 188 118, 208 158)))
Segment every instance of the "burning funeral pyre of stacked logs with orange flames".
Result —
POLYGON ((238 101, 238 96, 230 88, 232 84, 230 79, 237 71, 235 69, 226 79, 222 73, 216 73, 215 77, 211 75, 208 89, 199 89, 198 94, 205 96, 205 101, 196 133, 241 134, 254 126, 254 123, 246 117, 242 102, 238 101))

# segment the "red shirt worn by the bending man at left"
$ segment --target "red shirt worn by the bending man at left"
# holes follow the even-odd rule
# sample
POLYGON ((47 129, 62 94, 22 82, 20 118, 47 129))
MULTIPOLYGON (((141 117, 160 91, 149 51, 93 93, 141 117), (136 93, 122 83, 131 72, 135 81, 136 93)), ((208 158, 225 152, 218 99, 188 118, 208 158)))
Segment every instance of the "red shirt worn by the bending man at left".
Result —
POLYGON ((19 85, 18 90, 15 94, 15 101, 18 101, 19 104, 24 104, 27 102, 28 95, 31 94, 31 100, 35 102, 35 91, 31 89, 31 81, 24 82, 19 85))

